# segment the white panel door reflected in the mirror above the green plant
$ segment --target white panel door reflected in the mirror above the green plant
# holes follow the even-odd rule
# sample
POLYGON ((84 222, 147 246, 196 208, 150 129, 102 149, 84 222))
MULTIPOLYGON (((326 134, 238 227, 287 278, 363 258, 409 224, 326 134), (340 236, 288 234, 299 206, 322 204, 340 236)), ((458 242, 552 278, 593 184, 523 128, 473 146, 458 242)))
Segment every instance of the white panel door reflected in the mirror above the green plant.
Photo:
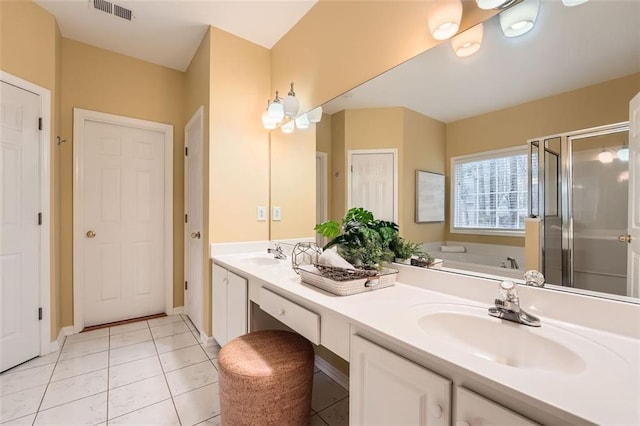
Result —
POLYGON ((397 222, 395 158, 392 153, 352 153, 349 208, 364 207, 376 219, 397 222))

